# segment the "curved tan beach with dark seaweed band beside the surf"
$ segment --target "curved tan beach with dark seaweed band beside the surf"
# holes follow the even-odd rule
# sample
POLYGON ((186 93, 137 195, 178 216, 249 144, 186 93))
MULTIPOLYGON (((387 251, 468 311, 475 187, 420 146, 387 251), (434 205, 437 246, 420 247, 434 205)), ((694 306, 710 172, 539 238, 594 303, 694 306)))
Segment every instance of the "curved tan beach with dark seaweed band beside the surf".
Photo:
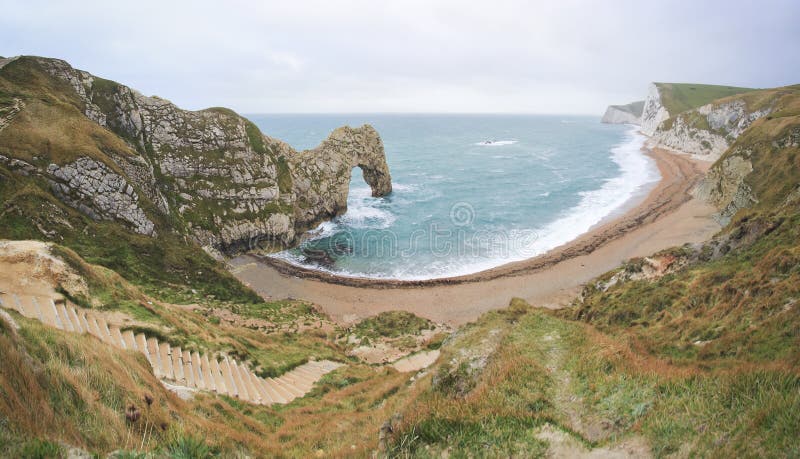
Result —
POLYGON ((503 308, 513 297, 557 308, 590 279, 623 261, 719 231, 715 209, 690 191, 710 163, 655 149, 661 181, 621 215, 541 256, 466 276, 426 281, 347 278, 300 268, 274 258, 241 255, 230 261, 236 277, 267 299, 301 298, 348 324, 389 310, 406 310, 461 325, 503 308))

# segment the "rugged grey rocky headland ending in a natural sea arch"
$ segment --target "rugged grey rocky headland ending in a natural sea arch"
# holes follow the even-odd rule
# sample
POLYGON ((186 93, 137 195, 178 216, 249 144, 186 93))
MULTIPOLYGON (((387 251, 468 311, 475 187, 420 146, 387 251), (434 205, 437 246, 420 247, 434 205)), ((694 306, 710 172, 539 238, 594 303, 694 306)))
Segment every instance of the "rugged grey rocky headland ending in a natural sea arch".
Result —
POLYGON ((261 242, 286 246, 346 210, 353 167, 375 196, 391 192, 383 145, 370 126, 337 129, 319 147, 297 152, 230 110, 181 110, 36 57, 4 61, 0 91, 6 167, 40 177, 91 218, 142 235, 177 231, 229 252, 261 242))

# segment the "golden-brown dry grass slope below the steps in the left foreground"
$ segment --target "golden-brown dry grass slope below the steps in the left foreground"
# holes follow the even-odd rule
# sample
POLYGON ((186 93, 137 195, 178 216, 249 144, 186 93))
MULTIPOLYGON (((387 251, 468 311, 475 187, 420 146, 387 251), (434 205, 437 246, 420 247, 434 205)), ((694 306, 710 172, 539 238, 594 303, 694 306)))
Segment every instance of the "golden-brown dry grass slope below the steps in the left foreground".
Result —
POLYGON ((192 433, 226 455, 304 457, 321 449, 327 456, 369 456, 381 424, 414 390, 407 375, 350 365, 285 407, 202 393, 184 402, 160 385, 141 355, 15 319, 20 336, 0 334, 0 414, 7 420, 0 451, 12 455, 31 438, 104 454, 157 450, 192 433), (125 419, 130 405, 141 412, 133 424, 125 419))

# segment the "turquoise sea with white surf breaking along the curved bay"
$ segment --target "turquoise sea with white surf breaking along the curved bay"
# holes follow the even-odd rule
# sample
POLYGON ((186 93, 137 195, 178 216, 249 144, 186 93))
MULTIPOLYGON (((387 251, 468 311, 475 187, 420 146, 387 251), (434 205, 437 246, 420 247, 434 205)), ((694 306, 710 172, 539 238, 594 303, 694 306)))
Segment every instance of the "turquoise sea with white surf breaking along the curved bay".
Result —
POLYGON ((380 133, 394 191, 353 171, 348 211, 275 256, 346 276, 430 279, 539 255, 618 212, 658 178, 631 127, 541 115, 250 115, 313 148, 337 126, 380 133))

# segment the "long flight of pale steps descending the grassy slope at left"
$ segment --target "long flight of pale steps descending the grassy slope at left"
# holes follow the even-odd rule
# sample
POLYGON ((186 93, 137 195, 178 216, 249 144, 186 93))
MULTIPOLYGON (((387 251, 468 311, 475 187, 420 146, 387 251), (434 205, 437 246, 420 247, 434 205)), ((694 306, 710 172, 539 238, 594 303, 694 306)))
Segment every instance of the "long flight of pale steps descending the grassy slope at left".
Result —
POLYGON ((88 333, 118 349, 141 352, 156 377, 171 384, 236 397, 260 404, 289 403, 307 394, 314 383, 342 364, 330 360, 311 361, 277 378, 262 378, 243 362, 226 355, 219 357, 171 347, 143 333, 122 331, 99 314, 53 298, 0 294, 0 306, 25 317, 73 333, 88 333))

